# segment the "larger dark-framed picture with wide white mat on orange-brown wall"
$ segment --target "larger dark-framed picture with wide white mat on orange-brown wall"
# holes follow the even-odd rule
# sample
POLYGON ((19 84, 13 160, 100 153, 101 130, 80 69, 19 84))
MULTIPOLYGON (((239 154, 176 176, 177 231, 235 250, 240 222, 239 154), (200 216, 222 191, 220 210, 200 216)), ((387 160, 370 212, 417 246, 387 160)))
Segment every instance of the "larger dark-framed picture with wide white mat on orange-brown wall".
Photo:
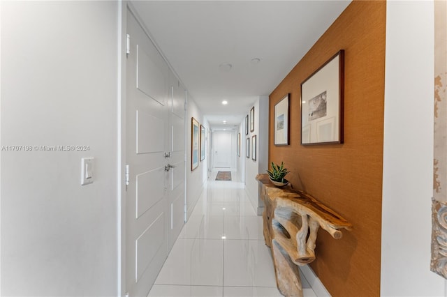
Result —
POLYGON ((342 144, 344 50, 301 83, 301 144, 342 144))

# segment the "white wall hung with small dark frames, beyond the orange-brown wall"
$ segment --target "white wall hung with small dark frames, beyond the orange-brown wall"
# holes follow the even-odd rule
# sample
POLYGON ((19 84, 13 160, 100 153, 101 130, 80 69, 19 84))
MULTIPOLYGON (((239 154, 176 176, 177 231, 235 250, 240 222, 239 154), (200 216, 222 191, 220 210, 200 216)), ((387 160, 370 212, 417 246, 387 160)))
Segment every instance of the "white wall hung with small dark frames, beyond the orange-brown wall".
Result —
MULTIPOLYGON (((268 97, 261 96, 256 100, 254 104, 255 121, 254 132, 250 132, 249 135, 243 137, 244 142, 244 156, 245 154, 245 142, 247 137, 250 138, 250 158, 245 160, 245 190, 251 201, 251 204, 255 208, 258 215, 263 212, 263 201, 258 197, 258 181, 256 181, 256 175, 265 173, 268 169, 268 97), (259 121, 259 119, 263 119, 259 121), (256 161, 251 159, 252 148, 252 136, 256 135, 257 153, 256 161), (260 150, 261 148, 261 150, 260 150)), ((244 131, 245 134, 245 131, 244 131)))

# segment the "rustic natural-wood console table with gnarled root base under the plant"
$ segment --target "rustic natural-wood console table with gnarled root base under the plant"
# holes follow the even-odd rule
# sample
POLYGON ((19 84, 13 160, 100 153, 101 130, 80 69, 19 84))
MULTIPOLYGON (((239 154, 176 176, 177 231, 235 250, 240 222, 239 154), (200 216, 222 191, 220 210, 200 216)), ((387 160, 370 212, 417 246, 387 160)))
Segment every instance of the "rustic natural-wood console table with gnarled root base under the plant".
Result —
POLYGON ((284 296, 302 296, 298 266, 314 261, 318 228, 339 239, 339 229, 351 230, 352 225, 305 192, 277 188, 268 174, 258 174, 256 180, 264 201, 265 244, 272 249, 278 289, 284 296))

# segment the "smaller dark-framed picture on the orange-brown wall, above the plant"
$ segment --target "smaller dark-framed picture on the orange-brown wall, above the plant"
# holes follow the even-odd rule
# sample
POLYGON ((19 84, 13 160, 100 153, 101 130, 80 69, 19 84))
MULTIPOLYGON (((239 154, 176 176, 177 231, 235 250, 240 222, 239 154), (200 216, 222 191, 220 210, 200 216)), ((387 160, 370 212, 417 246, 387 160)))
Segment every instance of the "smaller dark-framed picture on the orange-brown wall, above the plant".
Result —
POLYGON ((286 146, 288 145, 288 105, 290 101, 290 94, 279 100, 274 105, 274 145, 286 146))

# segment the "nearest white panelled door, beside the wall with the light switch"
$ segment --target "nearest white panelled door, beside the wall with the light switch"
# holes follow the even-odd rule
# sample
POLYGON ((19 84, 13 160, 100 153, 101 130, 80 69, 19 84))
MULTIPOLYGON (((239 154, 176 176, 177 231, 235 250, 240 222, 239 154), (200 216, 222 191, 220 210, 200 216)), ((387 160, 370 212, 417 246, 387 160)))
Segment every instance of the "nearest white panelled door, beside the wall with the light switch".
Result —
POLYGON ((168 255, 169 68, 131 12, 126 60, 126 291, 147 296, 168 255))

